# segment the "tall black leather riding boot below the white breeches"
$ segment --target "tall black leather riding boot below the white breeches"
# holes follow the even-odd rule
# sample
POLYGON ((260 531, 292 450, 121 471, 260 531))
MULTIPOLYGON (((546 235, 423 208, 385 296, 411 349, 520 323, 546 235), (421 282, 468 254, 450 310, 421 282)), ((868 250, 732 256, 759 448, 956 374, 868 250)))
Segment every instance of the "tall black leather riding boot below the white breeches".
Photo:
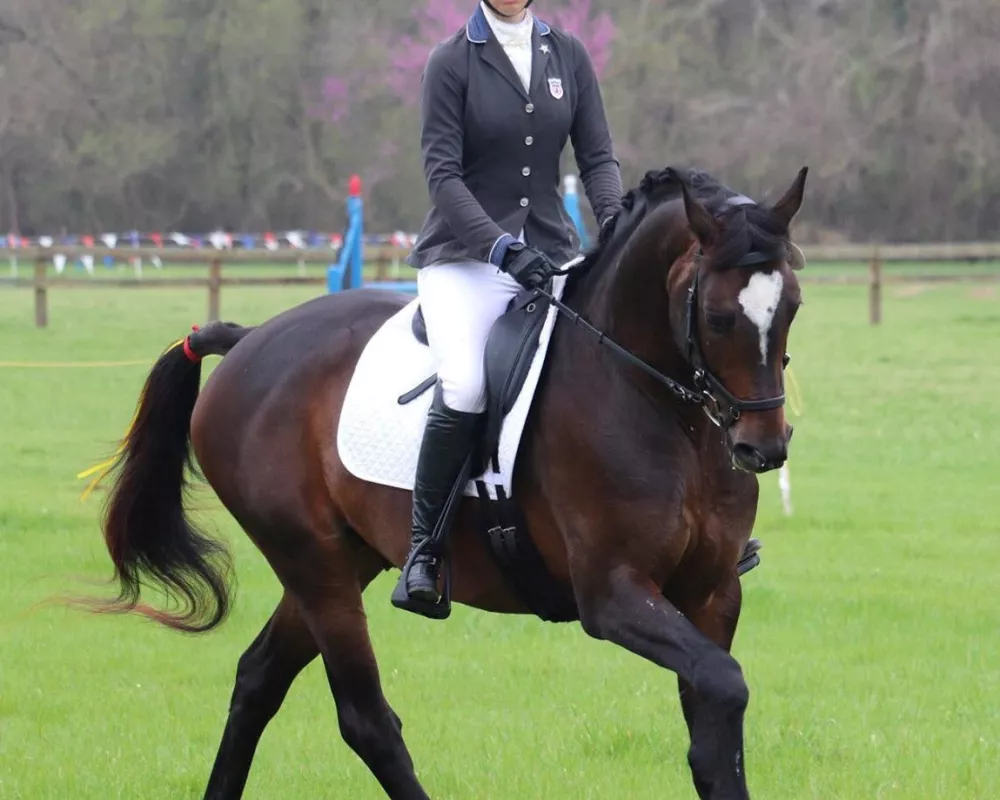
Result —
MULTIPOLYGON (((458 481, 462 481, 464 488, 469 479, 469 457, 483 416, 448 408, 442 398, 441 384, 435 387, 413 486, 409 569, 404 567, 392 594, 392 604, 397 608, 436 618, 447 613, 447 609, 437 607, 441 599, 437 580, 451 520, 442 521, 441 517, 458 481), (442 525, 435 534, 439 521, 442 525)), ((458 491, 460 500, 462 489, 458 491)), ((456 501, 452 512, 457 505, 456 501)))

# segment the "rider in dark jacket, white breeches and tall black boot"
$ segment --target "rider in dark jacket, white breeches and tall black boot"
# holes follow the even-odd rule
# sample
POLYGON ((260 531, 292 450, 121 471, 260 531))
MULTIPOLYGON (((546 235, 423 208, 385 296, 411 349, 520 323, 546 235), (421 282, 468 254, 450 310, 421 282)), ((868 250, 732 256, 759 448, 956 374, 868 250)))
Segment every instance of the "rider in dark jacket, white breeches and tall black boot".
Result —
POLYGON ((430 54, 421 146, 432 208, 409 263, 437 363, 413 487, 410 559, 393 604, 434 616, 442 535, 432 538, 462 478, 486 407, 483 352, 522 287, 577 255, 559 195, 572 140, 603 225, 622 195, 618 161, 590 56, 534 16, 532 0, 483 0, 464 29, 430 54), (418 552, 414 552, 419 548, 418 552))

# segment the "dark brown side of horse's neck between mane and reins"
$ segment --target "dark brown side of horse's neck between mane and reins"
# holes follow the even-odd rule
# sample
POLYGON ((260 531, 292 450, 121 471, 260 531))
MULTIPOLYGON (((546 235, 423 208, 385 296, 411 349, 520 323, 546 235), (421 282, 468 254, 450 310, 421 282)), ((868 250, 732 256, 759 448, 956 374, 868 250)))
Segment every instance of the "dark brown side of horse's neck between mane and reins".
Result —
MULTIPOLYGON (((692 243, 683 203, 671 200, 644 219, 615 263, 601 272, 586 302, 591 322, 632 354, 677 379, 689 377, 690 366, 678 344, 680 326, 672 324, 671 271, 692 243)), ((676 320, 673 320, 676 322, 676 320)))

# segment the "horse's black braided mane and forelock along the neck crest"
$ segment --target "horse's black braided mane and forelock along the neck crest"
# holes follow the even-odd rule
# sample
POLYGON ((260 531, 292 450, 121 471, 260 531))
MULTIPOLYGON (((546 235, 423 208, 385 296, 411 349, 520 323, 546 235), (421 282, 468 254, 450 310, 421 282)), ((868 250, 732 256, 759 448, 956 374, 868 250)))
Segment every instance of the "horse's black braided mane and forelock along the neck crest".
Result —
POLYGON ((745 202, 749 198, 703 170, 665 167, 647 172, 638 186, 626 192, 621 207, 601 228, 597 241, 584 253, 583 261, 570 272, 566 290, 571 290, 588 273, 605 269, 650 212, 682 196, 682 184, 722 223, 722 236, 712 247, 710 268, 731 268, 750 252, 760 252, 775 260, 785 257, 788 231, 770 208, 745 202), (731 203, 733 198, 744 202, 731 203))

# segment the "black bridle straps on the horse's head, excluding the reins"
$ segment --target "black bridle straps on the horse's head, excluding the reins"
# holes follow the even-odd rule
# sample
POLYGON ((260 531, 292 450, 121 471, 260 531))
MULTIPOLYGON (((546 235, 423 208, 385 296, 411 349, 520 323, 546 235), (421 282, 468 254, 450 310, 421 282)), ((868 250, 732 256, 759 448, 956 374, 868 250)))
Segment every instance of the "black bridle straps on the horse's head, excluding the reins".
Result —
MULTIPOLYGON (((763 253, 750 252, 741 258, 736 266, 749 267, 763 264, 770 259, 763 253)), ((785 386, 782 378, 781 394, 774 397, 764 397, 753 400, 742 400, 730 392, 719 377, 712 372, 705 361, 698 340, 698 279, 701 275, 701 248, 695 261, 694 279, 688 289, 685 303, 685 355, 688 363, 694 369, 694 385, 701 393, 701 406, 705 414, 723 430, 731 428, 744 411, 770 411, 781 408, 785 404, 785 386)), ((787 353, 782 357, 782 368, 788 366, 790 357, 787 353)))

